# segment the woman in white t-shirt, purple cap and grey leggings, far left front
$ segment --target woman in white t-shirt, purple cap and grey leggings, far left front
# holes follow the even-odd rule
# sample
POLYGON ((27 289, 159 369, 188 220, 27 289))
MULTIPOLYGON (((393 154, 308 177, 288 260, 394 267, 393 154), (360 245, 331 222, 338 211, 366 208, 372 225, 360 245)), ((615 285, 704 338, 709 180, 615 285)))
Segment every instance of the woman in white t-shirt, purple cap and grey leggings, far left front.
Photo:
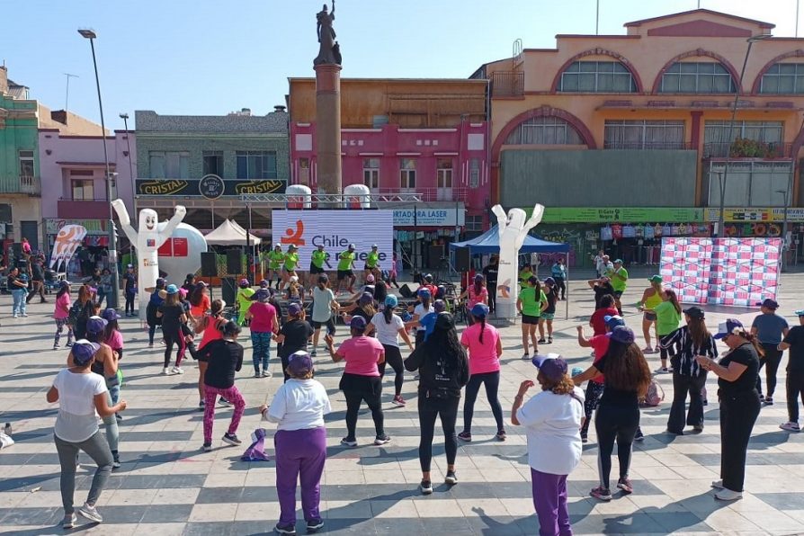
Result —
POLYGON ((61 464, 61 503, 64 505, 62 527, 72 529, 77 518, 73 507, 73 494, 76 491, 76 465, 78 452, 85 451, 98 465, 92 480, 92 487, 86 502, 78 508, 78 514, 94 522, 103 522, 103 517, 95 509, 106 480, 112 474, 112 451, 109 443, 98 430, 98 418, 114 417, 123 411, 125 400, 109 406, 106 381, 103 376, 91 370, 95 354, 101 345, 81 339, 73 344, 67 369, 58 372, 47 394, 50 404, 58 401, 58 415, 54 427, 58 462, 61 464))

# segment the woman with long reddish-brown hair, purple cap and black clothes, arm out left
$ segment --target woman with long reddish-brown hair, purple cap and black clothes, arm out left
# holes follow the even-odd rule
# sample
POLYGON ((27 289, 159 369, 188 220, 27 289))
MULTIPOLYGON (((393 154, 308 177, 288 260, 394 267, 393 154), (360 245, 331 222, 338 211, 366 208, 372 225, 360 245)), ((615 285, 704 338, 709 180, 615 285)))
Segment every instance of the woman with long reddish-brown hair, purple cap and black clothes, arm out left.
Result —
POLYGON ((605 389, 594 418, 597 432, 598 469, 600 486, 589 495, 602 501, 612 500, 609 475, 612 472, 612 451, 617 441, 617 458, 620 460, 620 479, 617 487, 624 494, 633 493, 628 473, 631 446, 639 429, 639 398, 648 393, 650 368, 639 345, 634 344, 634 332, 629 327, 617 326, 608 336, 609 349, 597 362, 573 380, 581 385, 598 374, 605 376, 605 389))

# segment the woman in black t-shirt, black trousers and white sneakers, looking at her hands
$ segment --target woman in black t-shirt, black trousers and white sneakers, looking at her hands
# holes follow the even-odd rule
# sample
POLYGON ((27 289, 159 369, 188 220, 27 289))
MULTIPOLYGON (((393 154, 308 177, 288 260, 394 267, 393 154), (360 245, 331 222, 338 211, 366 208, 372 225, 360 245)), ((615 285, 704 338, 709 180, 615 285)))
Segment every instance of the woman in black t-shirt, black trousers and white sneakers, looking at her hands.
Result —
POLYGON ((734 501, 743 497, 748 440, 762 406, 756 380, 763 352, 756 335, 736 318, 721 322, 715 338, 728 346, 720 362, 705 355, 696 355, 695 361, 718 377, 721 479, 712 482, 712 487, 719 490, 715 498, 734 501))

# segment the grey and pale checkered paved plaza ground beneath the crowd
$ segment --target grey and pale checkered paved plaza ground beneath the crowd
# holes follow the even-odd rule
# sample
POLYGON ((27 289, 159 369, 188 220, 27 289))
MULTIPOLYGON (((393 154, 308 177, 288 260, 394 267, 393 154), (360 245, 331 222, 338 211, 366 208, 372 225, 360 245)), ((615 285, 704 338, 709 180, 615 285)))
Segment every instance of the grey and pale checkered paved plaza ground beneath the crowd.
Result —
MULTIPOLYGON (((580 273, 579 273, 580 275, 580 273)), ((635 307, 644 278, 632 278, 623 298, 627 322, 639 334, 635 307)), ((591 362, 576 344, 578 324, 586 325, 594 300, 590 290, 575 284, 571 291, 569 320, 559 304, 555 343, 542 352, 558 352, 570 366, 591 362)), ((785 275, 780 312, 804 307, 804 274, 785 275)), ((53 443, 57 406, 45 401, 51 380, 64 365, 67 350, 53 351, 52 303, 32 304, 28 318, 10 317, 11 298, 0 296, 0 423, 13 424, 13 447, 0 451, 0 532, 15 534, 62 533, 63 511, 58 491, 59 466, 53 443)), ((727 316, 750 322, 757 311, 709 308, 710 327, 727 316)), ((129 409, 121 423, 122 467, 114 472, 98 503, 104 523, 83 525, 73 532, 94 534, 216 534, 240 535, 271 532, 279 516, 272 462, 243 462, 244 447, 219 441, 230 408, 219 408, 214 450, 201 452, 201 412, 196 409, 197 368, 187 363, 183 376, 161 376, 162 348, 147 348, 147 334, 138 321, 122 319, 126 353, 121 366, 126 382, 121 398, 129 409)), ((587 335, 591 330, 586 329, 587 335)), ((263 426, 257 406, 272 395, 281 381, 278 359, 272 361, 272 379, 251 378, 251 343, 242 337, 246 362, 237 387, 247 401, 239 435, 263 426)), ((346 330, 339 328, 337 340, 346 330)), ((503 331, 501 401, 506 422, 520 382, 535 379, 530 362, 523 362, 520 327, 503 331)), ((638 340, 641 343, 641 336, 638 340)), ((337 383, 342 364, 322 357, 319 349, 317 379, 326 386, 334 413, 326 417, 328 459, 322 482, 322 514, 331 534, 536 534, 538 523, 532 505, 531 474, 522 429, 507 425, 508 439, 496 442, 496 426, 481 392, 476 406, 474 442, 460 446, 457 460, 460 483, 448 489, 443 482, 445 459, 442 438, 436 436, 433 467, 435 491, 420 496, 417 457, 419 441, 415 408, 416 385, 406 377, 406 407, 390 404, 392 377, 383 395, 386 430, 392 441, 373 446, 373 424, 368 411, 358 422, 360 445, 340 445, 345 435, 343 394, 337 383), (390 393, 388 392, 390 391, 390 393)), ((275 356, 275 353, 273 353, 275 356)), ((787 357, 784 360, 786 362, 787 357)), ((651 368, 658 365, 649 355, 651 368)), ((664 433, 672 398, 671 375, 658 380, 666 401, 642 411, 645 441, 635 443, 631 469, 634 494, 615 495, 611 503, 588 496, 597 484, 597 445, 594 425, 583 460, 568 480, 569 509, 576 534, 801 534, 804 533, 804 435, 779 429, 786 421, 783 389, 776 404, 764 407, 755 425, 747 461, 746 493, 741 501, 724 504, 713 499, 710 482, 719 477, 719 410, 716 382, 708 382, 706 428, 698 435, 664 433)), ((459 414, 459 431, 461 415, 459 414)), ((89 487, 94 466, 83 454, 77 479, 76 503, 89 487)), ((617 463, 614 461, 614 473, 617 463)), ((616 477, 615 477, 616 478, 616 477)), ((299 516, 300 519, 300 516, 299 516)), ((79 521, 83 521, 79 517, 79 521)), ((299 522, 299 533, 304 533, 299 522)))

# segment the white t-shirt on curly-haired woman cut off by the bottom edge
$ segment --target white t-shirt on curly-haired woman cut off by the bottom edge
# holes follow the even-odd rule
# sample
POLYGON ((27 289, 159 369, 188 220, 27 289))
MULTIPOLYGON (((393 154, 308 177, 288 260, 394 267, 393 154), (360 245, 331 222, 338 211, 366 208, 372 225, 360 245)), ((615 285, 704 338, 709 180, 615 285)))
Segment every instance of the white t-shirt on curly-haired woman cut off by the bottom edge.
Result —
POLYGON ((528 436, 528 463, 537 471, 568 475, 581 460, 584 392, 574 391, 580 401, 541 391, 516 411, 528 436))

